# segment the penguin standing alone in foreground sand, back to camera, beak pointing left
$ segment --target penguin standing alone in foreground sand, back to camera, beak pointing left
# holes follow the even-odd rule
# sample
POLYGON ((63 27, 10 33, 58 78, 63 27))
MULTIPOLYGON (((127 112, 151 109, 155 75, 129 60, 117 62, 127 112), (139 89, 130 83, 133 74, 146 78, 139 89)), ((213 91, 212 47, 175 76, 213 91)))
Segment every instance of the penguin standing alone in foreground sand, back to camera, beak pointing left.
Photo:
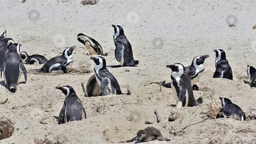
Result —
POLYGON ((56 88, 65 94, 64 104, 58 117, 58 124, 80 121, 82 120, 83 112, 84 118, 87 118, 82 101, 78 98, 72 87, 63 86, 56 88))

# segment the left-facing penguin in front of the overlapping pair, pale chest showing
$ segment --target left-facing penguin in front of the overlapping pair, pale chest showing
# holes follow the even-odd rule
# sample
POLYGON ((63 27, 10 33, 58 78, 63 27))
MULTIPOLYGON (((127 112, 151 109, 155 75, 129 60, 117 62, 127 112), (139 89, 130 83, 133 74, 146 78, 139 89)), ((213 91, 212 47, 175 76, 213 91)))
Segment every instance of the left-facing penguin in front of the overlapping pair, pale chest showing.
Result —
POLYGON ((193 90, 191 87, 191 78, 186 75, 189 69, 186 69, 181 63, 174 63, 173 65, 167 65, 167 68, 171 68, 171 87, 176 102, 182 102, 182 106, 197 106, 203 103, 203 98, 200 97, 197 100, 194 98, 193 90), (185 73, 185 74, 184 74, 185 73))

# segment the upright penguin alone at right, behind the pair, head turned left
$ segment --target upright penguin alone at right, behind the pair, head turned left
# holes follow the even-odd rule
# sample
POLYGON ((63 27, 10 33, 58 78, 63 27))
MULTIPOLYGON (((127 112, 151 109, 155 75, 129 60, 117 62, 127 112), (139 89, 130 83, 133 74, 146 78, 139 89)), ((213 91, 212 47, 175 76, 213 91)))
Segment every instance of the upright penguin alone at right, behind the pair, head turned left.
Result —
POLYGON ((226 59, 225 51, 219 49, 214 50, 216 53, 215 57, 215 68, 216 71, 213 74, 213 78, 226 78, 229 80, 233 80, 232 69, 229 65, 228 60, 226 59))

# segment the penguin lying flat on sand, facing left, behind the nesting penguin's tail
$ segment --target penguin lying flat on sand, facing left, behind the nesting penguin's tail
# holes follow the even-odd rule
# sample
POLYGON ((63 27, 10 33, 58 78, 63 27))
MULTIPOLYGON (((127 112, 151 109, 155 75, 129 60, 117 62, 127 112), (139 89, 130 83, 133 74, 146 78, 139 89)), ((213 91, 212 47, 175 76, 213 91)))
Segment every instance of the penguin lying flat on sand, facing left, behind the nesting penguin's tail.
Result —
POLYGON ((20 55, 21 55, 21 60, 22 60, 22 63, 24 64, 45 64, 46 62, 48 62, 48 60, 44 57, 44 56, 41 56, 41 55, 31 55, 29 56, 27 54, 27 52, 25 51, 22 51, 20 52, 20 55))

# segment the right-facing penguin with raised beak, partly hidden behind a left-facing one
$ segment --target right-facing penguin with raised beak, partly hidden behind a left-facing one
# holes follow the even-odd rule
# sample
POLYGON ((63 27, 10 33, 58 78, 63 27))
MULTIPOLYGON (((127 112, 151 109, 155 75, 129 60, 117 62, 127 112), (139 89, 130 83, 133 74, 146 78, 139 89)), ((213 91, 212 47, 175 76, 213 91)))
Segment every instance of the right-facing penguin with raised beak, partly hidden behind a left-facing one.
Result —
MULTIPOLYGON (((197 56, 192 60, 192 64, 186 69, 189 68, 189 72, 187 75, 191 77, 191 86, 193 87, 193 90, 199 90, 197 85, 194 85, 201 77, 201 75, 204 73, 204 60, 209 57, 209 55, 204 56, 197 56)), ((171 88, 171 83, 163 81, 162 82, 163 87, 171 88)))

